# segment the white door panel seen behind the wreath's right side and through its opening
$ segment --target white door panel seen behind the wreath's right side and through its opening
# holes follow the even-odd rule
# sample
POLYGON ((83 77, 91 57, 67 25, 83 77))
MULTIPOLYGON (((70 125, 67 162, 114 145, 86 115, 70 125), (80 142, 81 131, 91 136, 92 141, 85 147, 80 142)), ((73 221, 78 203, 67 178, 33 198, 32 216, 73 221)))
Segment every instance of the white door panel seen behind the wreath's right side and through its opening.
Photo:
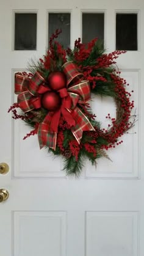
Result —
MULTIPOLYGON (((107 158, 98 160, 98 165, 88 168, 86 167, 86 176, 89 178, 139 178, 140 175, 140 150, 139 150, 139 104, 140 104, 140 70, 126 69, 120 70, 121 77, 126 79, 129 84, 128 92, 131 93, 131 100, 135 102, 135 125, 121 138, 123 143, 116 146, 115 150, 109 150, 107 153, 111 161, 107 158), (138 114, 138 115, 137 115, 138 114), (114 163, 114 164, 113 164, 114 163)), ((96 117, 101 121, 103 128, 107 129, 110 124, 109 119, 106 119, 108 113, 115 118, 115 103, 112 98, 96 97, 92 101, 92 109, 96 113, 96 117), (100 111, 98 111, 100 109, 100 111)))

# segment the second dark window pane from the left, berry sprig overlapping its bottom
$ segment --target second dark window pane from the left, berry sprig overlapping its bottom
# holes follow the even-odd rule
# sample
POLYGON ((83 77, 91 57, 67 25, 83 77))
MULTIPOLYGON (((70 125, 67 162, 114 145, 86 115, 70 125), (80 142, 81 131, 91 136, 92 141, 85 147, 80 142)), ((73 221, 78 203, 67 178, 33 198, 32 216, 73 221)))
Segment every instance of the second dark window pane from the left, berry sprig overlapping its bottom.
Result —
POLYGON ((48 37, 50 38, 56 29, 62 29, 57 41, 64 48, 70 47, 70 16, 70 13, 49 13, 48 37))

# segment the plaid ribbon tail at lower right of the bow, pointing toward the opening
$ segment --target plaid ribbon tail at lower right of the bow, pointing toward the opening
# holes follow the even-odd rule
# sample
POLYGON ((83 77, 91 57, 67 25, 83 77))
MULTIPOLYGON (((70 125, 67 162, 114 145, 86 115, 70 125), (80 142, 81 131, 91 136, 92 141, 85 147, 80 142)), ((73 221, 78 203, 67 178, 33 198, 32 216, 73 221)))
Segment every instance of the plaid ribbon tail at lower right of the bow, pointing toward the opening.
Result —
POLYGON ((95 131, 95 128, 79 108, 75 108, 71 114, 76 121, 76 126, 71 128, 71 132, 76 138, 76 141, 80 144, 83 131, 95 131))

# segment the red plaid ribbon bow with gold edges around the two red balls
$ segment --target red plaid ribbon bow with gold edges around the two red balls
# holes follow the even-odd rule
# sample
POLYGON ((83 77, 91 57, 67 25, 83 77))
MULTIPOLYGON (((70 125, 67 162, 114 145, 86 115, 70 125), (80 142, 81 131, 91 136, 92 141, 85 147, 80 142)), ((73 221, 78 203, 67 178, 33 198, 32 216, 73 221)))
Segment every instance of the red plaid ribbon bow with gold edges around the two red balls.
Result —
MULTIPOLYGON (((90 85, 88 81, 82 81, 82 73, 73 62, 63 65, 63 73, 67 76, 67 89, 59 90, 62 105, 57 111, 48 112, 43 122, 38 127, 38 141, 40 148, 48 146, 56 150, 57 128, 60 115, 71 126, 71 132, 80 144, 83 131, 95 131, 87 117, 77 107, 77 104, 85 104, 90 100, 90 85)), ((46 81, 36 71, 32 78, 15 74, 15 93, 18 94, 18 104, 23 112, 41 108, 41 95, 51 91, 46 86, 46 81)))

